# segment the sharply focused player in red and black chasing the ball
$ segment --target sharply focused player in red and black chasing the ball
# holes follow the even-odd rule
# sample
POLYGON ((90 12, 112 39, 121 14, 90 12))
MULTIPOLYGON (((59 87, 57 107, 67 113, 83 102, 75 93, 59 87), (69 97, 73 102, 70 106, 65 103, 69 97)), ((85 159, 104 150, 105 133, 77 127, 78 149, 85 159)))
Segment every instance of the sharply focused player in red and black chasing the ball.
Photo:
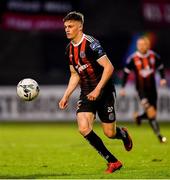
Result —
POLYGON ((106 173, 112 173, 120 169, 122 163, 93 131, 93 122, 97 112, 104 134, 111 139, 121 139, 127 151, 132 149, 132 140, 127 129, 116 126, 115 88, 112 82, 114 67, 99 41, 83 33, 83 14, 70 12, 63 21, 66 36, 70 40, 66 56, 71 76, 59 107, 67 107, 69 97, 80 85, 76 113, 79 132, 108 162, 106 173))

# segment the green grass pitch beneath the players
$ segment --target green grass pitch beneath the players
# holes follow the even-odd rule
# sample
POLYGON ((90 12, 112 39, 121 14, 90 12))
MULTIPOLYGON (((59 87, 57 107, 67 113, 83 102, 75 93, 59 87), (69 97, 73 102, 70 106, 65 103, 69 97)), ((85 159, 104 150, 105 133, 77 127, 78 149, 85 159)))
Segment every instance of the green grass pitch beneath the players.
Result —
MULTIPOLYGON (((118 123, 119 124, 119 123, 118 123)), ((112 174, 104 174, 105 160, 91 148, 74 123, 0 123, 0 179, 149 179, 170 178, 170 123, 161 123, 169 142, 161 144, 149 124, 129 129, 134 141, 126 152, 120 140, 94 130, 109 150, 123 162, 112 174)))

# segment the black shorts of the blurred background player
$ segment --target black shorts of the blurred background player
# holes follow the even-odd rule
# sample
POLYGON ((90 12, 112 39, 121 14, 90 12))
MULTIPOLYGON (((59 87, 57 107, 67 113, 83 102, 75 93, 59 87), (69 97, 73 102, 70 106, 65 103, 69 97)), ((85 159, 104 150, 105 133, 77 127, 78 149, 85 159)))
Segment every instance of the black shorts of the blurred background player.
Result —
POLYGON ((157 109, 157 91, 150 89, 147 91, 138 91, 140 100, 147 99, 148 103, 157 109))

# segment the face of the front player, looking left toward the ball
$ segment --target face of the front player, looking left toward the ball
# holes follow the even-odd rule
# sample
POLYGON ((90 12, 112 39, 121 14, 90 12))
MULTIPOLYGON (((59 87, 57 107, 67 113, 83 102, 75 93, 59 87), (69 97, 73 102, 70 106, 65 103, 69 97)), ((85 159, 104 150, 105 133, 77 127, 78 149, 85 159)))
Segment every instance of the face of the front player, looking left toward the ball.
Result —
POLYGON ((68 39, 74 40, 82 32, 82 24, 79 21, 69 20, 64 22, 64 29, 68 39))

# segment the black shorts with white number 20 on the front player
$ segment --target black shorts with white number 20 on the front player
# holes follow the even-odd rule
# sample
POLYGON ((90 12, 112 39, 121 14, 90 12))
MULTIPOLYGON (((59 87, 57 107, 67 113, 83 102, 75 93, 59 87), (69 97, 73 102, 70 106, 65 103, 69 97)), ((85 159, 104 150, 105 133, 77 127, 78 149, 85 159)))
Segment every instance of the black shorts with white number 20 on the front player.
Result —
POLYGON ((77 113, 92 112, 95 115, 97 113, 102 122, 111 123, 116 120, 115 101, 115 92, 104 93, 96 101, 90 101, 86 96, 81 96, 77 102, 77 113))

